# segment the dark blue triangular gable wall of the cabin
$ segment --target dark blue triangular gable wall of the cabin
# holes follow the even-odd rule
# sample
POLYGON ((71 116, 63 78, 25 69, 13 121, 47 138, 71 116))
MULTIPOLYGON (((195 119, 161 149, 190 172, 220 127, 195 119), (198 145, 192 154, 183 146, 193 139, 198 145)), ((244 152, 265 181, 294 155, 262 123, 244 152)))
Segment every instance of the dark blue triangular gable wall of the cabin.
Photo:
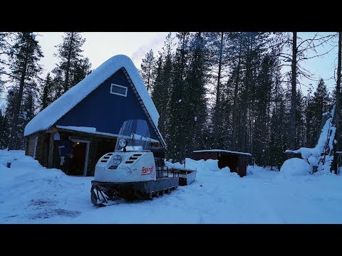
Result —
POLYGON ((135 97, 123 70, 120 69, 78 102, 78 105, 61 117, 56 125, 95 127, 96 132, 118 134, 121 125, 127 119, 145 119, 151 137, 157 139, 147 115, 135 97), (127 97, 111 94, 112 83, 128 87, 127 97))

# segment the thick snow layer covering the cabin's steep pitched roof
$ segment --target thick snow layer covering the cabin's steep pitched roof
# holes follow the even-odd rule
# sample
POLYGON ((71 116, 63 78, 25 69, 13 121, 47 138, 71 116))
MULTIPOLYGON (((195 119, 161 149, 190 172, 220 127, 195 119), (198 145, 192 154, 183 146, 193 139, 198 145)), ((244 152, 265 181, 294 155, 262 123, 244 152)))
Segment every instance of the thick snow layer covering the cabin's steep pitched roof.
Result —
MULTIPOLYGON (((36 117, 33 117, 25 127, 24 136, 28 136, 51 127, 51 125, 55 124, 58 119, 63 117, 64 114, 75 107, 78 102, 81 102, 81 100, 89 95, 90 92, 93 92, 93 90, 95 90, 102 82, 108 79, 120 68, 125 68, 127 71, 147 109, 147 112, 150 114, 152 122, 155 124, 155 127, 157 127, 159 114, 155 108, 155 104, 152 102, 150 94, 147 92, 138 69, 128 56, 115 55, 93 70, 92 73, 87 75, 81 82, 78 82, 77 85, 71 87, 70 90, 52 102, 51 105, 48 105, 48 107, 39 112, 36 117)), ((162 137, 161 134, 160 137, 162 137)))

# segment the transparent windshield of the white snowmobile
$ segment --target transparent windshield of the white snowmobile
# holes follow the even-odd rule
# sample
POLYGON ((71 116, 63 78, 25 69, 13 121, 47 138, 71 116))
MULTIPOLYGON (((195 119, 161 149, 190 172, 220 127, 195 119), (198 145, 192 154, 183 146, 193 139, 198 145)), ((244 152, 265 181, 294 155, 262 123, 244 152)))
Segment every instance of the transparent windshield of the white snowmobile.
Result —
POLYGON ((151 151, 150 130, 142 119, 126 120, 118 134, 115 151, 151 151))

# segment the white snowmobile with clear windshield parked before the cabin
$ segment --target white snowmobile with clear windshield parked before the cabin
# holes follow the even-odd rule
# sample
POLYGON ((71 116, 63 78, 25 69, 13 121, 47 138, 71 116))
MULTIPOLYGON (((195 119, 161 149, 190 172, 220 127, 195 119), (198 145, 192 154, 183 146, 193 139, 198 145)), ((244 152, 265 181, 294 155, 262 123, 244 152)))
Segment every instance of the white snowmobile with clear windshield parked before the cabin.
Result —
POLYGON ((95 206, 123 201, 152 199, 179 186, 179 176, 169 176, 165 149, 152 147, 147 122, 126 120, 113 152, 103 155, 95 166, 90 198, 95 206))

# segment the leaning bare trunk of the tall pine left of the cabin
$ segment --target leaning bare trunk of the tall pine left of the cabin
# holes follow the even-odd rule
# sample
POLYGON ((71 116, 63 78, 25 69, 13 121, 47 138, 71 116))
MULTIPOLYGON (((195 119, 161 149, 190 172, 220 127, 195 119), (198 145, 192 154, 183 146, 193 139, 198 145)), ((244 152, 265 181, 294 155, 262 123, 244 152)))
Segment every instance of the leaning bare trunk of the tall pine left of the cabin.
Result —
POLYGON ((23 98, 23 91, 24 91, 24 84, 25 84, 25 77, 26 77, 27 60, 28 60, 28 56, 26 55, 25 60, 24 60, 23 71, 21 72, 19 92, 18 92, 18 95, 16 96, 16 105, 14 107, 13 126, 12 126, 11 132, 9 134, 9 148, 8 148, 8 150, 16 149, 14 135, 16 134, 16 130, 18 127, 21 100, 23 98))

